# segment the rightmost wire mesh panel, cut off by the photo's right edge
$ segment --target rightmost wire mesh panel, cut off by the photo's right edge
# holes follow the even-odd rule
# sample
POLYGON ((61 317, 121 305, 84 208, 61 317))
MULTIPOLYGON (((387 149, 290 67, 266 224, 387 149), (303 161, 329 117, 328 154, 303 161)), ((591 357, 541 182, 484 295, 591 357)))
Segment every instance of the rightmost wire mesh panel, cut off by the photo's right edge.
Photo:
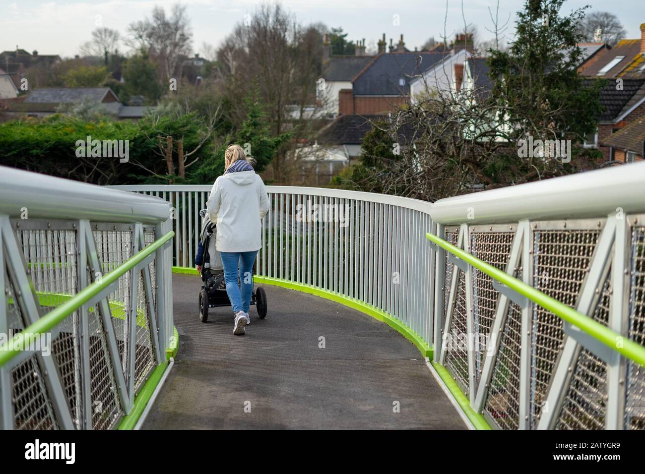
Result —
MULTIPOLYGON (((645 345, 645 227, 631 229, 630 339, 645 345)), ((625 427, 645 429, 645 368, 628 361, 625 427)))

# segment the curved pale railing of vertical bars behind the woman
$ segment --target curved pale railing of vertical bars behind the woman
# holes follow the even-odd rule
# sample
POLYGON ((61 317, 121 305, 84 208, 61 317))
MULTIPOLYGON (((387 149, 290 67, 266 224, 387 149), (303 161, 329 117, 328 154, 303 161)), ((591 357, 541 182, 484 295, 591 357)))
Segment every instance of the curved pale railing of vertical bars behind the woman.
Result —
MULTIPOLYGON (((193 266, 212 186, 114 186, 174 206, 177 266, 193 266)), ((375 193, 267 186, 256 274, 355 299, 432 341, 430 203, 375 193)))

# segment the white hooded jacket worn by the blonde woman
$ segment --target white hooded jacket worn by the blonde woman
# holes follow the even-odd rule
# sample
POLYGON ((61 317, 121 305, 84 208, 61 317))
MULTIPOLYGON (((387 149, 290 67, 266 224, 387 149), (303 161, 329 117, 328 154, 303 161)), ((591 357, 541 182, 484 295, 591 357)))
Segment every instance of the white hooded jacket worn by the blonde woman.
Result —
POLYGON ((226 173, 215 180, 208 197, 208 217, 217 225, 219 252, 252 252, 262 246, 260 219, 270 202, 255 171, 226 173))

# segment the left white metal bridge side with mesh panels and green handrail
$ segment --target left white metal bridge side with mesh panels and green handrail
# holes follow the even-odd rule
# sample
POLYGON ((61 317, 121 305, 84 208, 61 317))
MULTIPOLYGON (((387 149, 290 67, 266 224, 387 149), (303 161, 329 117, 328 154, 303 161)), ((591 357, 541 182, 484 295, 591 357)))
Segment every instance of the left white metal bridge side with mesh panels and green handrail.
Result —
POLYGON ((160 199, 0 167, 1 428, 132 411, 173 342, 170 231, 160 199))

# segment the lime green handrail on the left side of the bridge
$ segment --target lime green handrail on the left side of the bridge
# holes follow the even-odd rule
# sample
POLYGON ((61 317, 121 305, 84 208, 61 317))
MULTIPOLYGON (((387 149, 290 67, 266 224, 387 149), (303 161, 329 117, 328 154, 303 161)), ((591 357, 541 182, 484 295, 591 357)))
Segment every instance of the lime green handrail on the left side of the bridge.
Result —
POLYGON ((45 316, 41 317, 41 319, 34 322, 34 324, 31 324, 24 330, 17 333, 11 342, 0 347, 0 366, 5 365, 21 352, 21 350, 16 348, 26 348, 32 344, 32 342, 35 342, 41 335, 51 331, 54 326, 61 323, 66 317, 74 313, 74 311, 81 308, 81 306, 90 301, 92 297, 98 295, 105 288, 108 288, 108 286, 117 281, 121 275, 132 270, 132 268, 148 257, 148 255, 155 252, 159 247, 172 239, 174 235, 175 233, 172 230, 166 233, 166 235, 157 239, 157 241, 152 242, 152 244, 148 245, 140 252, 132 255, 130 259, 123 262, 123 264, 112 270, 112 272, 103 275, 103 278, 100 281, 95 281, 94 283, 86 286, 86 288, 76 293, 74 297, 61 304, 61 306, 57 306, 57 308, 48 312, 45 316), (8 345, 11 347, 7 347, 8 345))

